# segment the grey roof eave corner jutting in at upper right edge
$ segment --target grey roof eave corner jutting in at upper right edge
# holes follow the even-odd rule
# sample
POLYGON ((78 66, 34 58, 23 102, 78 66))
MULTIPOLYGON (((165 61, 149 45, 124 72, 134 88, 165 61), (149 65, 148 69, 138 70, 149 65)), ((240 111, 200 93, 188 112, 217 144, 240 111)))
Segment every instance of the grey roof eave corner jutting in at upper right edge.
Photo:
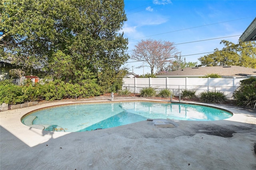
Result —
POLYGON ((256 18, 250 23, 240 39, 242 41, 256 41, 256 18))

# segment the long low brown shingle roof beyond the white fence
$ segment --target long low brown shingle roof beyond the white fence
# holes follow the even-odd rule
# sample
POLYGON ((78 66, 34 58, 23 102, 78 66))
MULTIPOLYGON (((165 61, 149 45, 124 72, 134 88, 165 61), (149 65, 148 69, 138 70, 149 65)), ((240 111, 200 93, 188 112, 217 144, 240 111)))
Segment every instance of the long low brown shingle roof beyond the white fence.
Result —
POLYGON ((175 70, 165 74, 157 75, 158 77, 173 76, 195 76, 201 77, 206 74, 218 74, 222 77, 247 77, 256 76, 255 68, 247 68, 242 66, 206 66, 206 67, 188 67, 175 70))

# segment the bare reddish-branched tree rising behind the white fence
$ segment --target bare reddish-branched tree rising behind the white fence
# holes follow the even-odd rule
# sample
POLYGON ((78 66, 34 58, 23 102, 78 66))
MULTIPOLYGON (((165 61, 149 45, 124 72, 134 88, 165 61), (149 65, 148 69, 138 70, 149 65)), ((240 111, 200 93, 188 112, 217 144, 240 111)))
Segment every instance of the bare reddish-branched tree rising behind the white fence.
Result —
POLYGON ((180 54, 173 42, 146 39, 135 45, 131 59, 148 64, 151 74, 162 72, 172 63, 172 57, 180 54))

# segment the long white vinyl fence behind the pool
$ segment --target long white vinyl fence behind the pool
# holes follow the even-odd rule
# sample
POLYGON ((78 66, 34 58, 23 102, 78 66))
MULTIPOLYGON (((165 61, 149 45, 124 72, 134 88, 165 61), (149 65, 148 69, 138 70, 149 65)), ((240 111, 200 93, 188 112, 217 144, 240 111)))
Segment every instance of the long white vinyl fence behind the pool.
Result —
POLYGON ((152 87, 156 90, 170 89, 174 96, 179 96, 183 89, 196 90, 198 96, 204 91, 224 92, 227 98, 240 86, 240 80, 247 78, 123 78, 122 90, 128 89, 140 93, 142 88, 152 87))

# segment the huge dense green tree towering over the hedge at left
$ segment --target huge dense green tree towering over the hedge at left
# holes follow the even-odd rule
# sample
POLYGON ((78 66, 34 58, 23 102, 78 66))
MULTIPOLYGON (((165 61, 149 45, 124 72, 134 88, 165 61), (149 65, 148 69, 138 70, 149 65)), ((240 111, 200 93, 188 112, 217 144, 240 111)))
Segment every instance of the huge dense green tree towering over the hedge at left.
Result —
POLYGON ((2 0, 1 58, 64 81, 111 86, 128 60, 123 0, 2 0))

